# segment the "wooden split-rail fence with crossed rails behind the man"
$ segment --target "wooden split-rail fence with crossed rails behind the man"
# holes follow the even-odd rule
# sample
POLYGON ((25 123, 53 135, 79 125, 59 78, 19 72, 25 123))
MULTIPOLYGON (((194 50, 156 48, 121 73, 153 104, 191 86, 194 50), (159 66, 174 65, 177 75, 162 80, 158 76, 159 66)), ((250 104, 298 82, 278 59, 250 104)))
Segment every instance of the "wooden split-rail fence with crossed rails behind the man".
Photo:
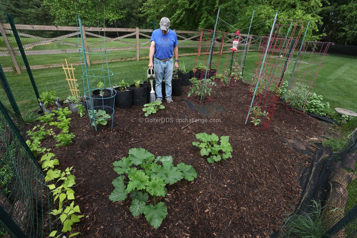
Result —
MULTIPOLYGON (((19 32, 20 37, 28 37, 28 38, 34 38, 37 41, 32 42, 29 44, 23 45, 25 54, 26 56, 30 55, 38 55, 39 57, 44 57, 44 55, 52 55, 52 54, 70 54, 70 53, 78 53, 79 52, 79 45, 78 44, 73 44, 70 42, 66 42, 65 39, 69 37, 74 37, 74 36, 79 36, 80 35, 80 30, 78 27, 73 27, 73 26, 43 26, 43 25, 21 25, 21 24, 16 24, 16 29, 19 32), (30 35, 28 32, 31 31, 62 31, 62 32, 67 32, 65 35, 53 37, 51 39, 41 37, 41 36, 36 36, 36 35, 30 35), (21 33, 21 32, 27 32, 27 33, 21 33), (69 33, 70 32, 70 33, 69 33), (39 45, 45 45, 45 44, 50 44, 50 43, 58 43, 61 45, 68 45, 70 49, 53 49, 53 50, 32 50, 33 47, 39 46, 39 45), (74 48, 77 47, 77 48, 74 48)), ((127 50, 135 50, 136 55, 134 57, 124 57, 124 58, 116 58, 116 59, 108 59, 108 62, 118 62, 118 61, 126 61, 126 60, 142 60, 142 59, 149 59, 149 55, 146 56, 140 56, 139 52, 142 49, 149 49, 150 48, 150 38, 151 38, 151 32, 152 29, 140 29, 139 27, 136 28, 103 28, 103 27, 84 27, 82 26, 82 31, 85 33, 84 34, 84 48, 85 49, 91 49, 92 52, 95 51, 102 51, 103 49, 96 49, 100 48, 98 45, 103 44, 105 42, 108 44, 109 42, 120 42, 121 44, 124 44, 122 47, 107 47, 106 50, 109 51, 127 51, 127 50), (94 32, 98 32, 99 34, 95 34, 94 32), (121 36, 117 36, 114 38, 103 36, 105 35, 103 32, 106 32, 106 35, 108 35, 109 32, 120 32, 121 36), (123 33, 124 32, 124 33, 123 33), (127 34, 125 34, 127 33, 127 34), (124 35, 122 35, 124 34, 124 35), (134 36, 135 36, 135 43, 134 42, 134 36), (97 38, 102 38, 103 41, 101 42, 96 42, 93 44, 88 44, 87 38, 89 37, 97 37, 97 38), (124 41, 124 38, 132 38, 132 42, 130 41, 124 41), (139 40, 141 39, 141 41, 139 40), (146 41, 142 42, 142 39, 146 39, 146 41)), ((177 37, 178 37, 178 47, 195 47, 197 48, 197 52, 201 52, 199 47, 205 46, 208 47, 208 45, 204 44, 199 44, 199 42, 202 40, 202 37, 204 37, 207 32, 205 30, 201 31, 180 31, 180 30, 175 30, 177 37), (189 37, 187 35, 190 35, 189 37), (189 44, 186 44, 187 42, 190 42, 189 44)), ((7 35, 12 35, 11 31, 11 26, 10 24, 2 24, 0 22, 0 34, 2 38, 4 39, 6 47, 0 47, 0 57, 1 56, 10 56, 11 61, 13 63, 13 67, 3 67, 5 72, 8 71, 16 71, 18 74, 21 73, 21 70, 25 70, 25 66, 19 66, 17 59, 15 56, 20 56, 21 53, 18 50, 17 47, 12 47, 10 44, 10 41, 7 37, 7 35)), ((112 35, 112 34, 111 34, 112 35)), ((231 38, 233 36, 232 34, 226 34, 225 39, 222 40, 222 44, 220 44, 220 50, 215 52, 216 54, 222 54, 223 52, 223 47, 225 46, 231 46, 231 38)), ((250 35, 252 36, 252 35, 250 35)), ((250 37, 250 45, 255 45, 258 46, 258 49, 261 44, 261 37, 257 36, 252 36, 250 37)), ((207 43, 208 44, 208 43, 207 43)), ((81 47, 81 46, 80 46, 81 47)), ((179 51, 180 54, 180 51, 179 51)), ((200 53, 202 54, 202 52, 200 53)), ((208 54, 208 53, 207 53, 208 54)), ((189 55, 197 55, 196 52, 193 53, 185 53, 185 54, 180 54, 180 56, 189 56, 189 55)), ((88 53, 86 53, 86 56, 88 56, 88 53)), ((63 56, 63 59, 66 57, 66 55, 63 56)), ((89 59, 89 57, 87 57, 89 59)), ((101 60, 89 60, 89 64, 99 64, 101 63, 101 60)), ((80 65, 81 62, 72 62, 72 65, 80 65)), ((62 67, 62 63, 59 64, 45 64, 45 65, 30 65, 31 69, 46 69, 46 68, 55 68, 55 67, 62 67)))

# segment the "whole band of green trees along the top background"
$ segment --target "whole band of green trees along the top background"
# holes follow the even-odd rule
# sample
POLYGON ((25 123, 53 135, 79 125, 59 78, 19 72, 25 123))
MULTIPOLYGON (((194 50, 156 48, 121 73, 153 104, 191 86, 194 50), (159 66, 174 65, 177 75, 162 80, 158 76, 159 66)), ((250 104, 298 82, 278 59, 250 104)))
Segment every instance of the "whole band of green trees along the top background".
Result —
POLYGON ((2 0, 0 21, 7 21, 7 13, 18 24, 75 26, 77 10, 86 26, 103 26, 104 22, 116 26, 118 21, 128 21, 129 27, 135 27, 159 23, 166 16, 172 29, 213 29, 219 6, 220 18, 231 25, 220 21, 221 31, 237 28, 247 33, 244 29, 255 9, 251 34, 267 35, 278 11, 279 19, 311 20, 307 40, 357 44, 357 0, 2 0))

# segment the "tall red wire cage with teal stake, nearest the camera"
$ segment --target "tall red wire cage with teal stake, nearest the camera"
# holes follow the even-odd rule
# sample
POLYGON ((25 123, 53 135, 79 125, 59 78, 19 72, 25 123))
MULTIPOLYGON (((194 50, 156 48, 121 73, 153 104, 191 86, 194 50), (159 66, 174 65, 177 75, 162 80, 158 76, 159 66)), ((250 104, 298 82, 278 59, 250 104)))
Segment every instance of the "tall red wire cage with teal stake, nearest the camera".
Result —
POLYGON ((245 123, 253 127, 269 127, 289 63, 304 26, 303 21, 281 20, 274 17, 269 36, 263 37, 264 51, 260 54, 253 83, 249 86, 250 105, 245 123), (249 120, 249 121, 248 121, 249 120))

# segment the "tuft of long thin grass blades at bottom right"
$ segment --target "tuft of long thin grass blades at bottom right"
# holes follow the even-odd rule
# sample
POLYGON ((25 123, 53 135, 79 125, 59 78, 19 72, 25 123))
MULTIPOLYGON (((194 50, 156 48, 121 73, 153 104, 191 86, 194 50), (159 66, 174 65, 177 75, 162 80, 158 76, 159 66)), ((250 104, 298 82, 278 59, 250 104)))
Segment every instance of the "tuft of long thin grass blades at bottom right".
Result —
MULTIPOLYGON (((327 218, 323 211, 326 207, 321 206, 320 202, 312 200, 311 212, 292 213, 285 219, 281 237, 299 238, 321 238, 325 237, 326 231, 331 220, 336 216, 327 218)), ((326 208, 329 209, 329 208, 326 208)), ((336 211, 338 208, 330 209, 328 213, 336 211)))

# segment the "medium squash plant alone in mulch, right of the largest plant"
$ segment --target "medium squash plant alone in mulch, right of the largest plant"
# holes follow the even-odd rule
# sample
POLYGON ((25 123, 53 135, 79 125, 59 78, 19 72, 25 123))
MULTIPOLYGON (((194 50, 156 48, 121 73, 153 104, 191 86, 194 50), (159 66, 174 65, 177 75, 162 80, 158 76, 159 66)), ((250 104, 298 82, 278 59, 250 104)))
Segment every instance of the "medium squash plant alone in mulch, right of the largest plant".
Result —
POLYGON ((219 138, 215 133, 208 135, 207 133, 198 133, 196 138, 199 141, 192 142, 193 146, 201 148, 201 156, 209 156, 209 163, 218 162, 221 159, 232 158, 232 146, 229 143, 229 136, 221 136, 219 138), (218 144, 218 141, 220 144, 218 144))

